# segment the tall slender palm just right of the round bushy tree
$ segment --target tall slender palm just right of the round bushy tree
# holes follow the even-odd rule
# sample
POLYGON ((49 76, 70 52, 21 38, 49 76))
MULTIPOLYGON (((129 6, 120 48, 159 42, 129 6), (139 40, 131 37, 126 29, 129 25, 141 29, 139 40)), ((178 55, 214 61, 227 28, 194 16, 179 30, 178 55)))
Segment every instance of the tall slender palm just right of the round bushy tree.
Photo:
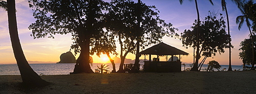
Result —
MULTIPOLYGON (((236 3, 238 8, 241 7, 241 4, 242 4, 241 0, 231 0, 231 1, 236 3)), ((227 6, 226 6, 225 0, 221 0, 221 6, 222 6, 222 11, 225 11, 226 15, 227 15, 227 31, 228 31, 228 35, 230 36, 229 19, 228 19, 227 6)), ((230 36, 230 40, 229 40, 229 67, 228 67, 228 71, 232 71, 232 67, 231 67, 231 36, 230 36)))

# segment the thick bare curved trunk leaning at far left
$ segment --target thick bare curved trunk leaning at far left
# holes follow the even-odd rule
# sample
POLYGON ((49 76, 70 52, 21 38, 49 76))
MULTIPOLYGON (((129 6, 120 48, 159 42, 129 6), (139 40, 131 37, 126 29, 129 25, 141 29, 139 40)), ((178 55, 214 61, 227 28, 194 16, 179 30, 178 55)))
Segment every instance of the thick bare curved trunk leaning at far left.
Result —
POLYGON ((40 76, 33 71, 33 69, 29 66, 28 61, 23 53, 22 46, 20 45, 18 37, 15 1, 7 0, 7 8, 9 33, 11 38, 12 49, 15 59, 17 61, 20 75, 22 76, 23 84, 28 86, 39 87, 49 85, 49 82, 42 80, 40 76))

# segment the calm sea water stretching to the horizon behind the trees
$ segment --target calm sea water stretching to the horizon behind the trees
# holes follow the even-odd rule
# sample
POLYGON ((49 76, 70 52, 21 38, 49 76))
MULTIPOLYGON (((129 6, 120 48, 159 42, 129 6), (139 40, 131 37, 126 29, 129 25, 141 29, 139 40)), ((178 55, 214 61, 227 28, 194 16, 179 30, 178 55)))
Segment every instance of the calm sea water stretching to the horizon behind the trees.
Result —
MULTIPOLYGON (((94 71, 97 66, 100 67, 101 63, 94 63, 91 69, 94 71)), ((113 70, 112 64, 109 65, 109 70, 113 70)), ((118 71, 120 64, 116 64, 116 70, 118 71)), ((30 64, 31 68, 39 75, 68 75, 73 72, 75 64, 30 64)), ((208 65, 203 65, 202 69, 207 68, 208 65)), ((190 68, 189 64, 186 64, 185 69, 190 68)), ((228 65, 221 65, 221 69, 228 69, 228 65)), ((201 69, 201 70, 202 70, 201 69)), ((243 66, 232 66, 232 70, 243 70, 243 66)), ((184 70, 184 66, 181 66, 181 70, 184 70)), ((215 69, 215 71, 217 71, 215 69)), ((17 65, 0 65, 0 75, 20 75, 17 65)))

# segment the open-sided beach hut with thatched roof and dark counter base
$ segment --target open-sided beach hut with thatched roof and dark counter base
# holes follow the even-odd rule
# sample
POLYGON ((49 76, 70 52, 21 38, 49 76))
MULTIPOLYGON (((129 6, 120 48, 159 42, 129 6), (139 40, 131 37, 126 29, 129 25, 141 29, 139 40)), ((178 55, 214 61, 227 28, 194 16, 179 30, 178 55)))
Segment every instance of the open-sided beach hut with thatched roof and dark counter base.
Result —
MULTIPOLYGON (((140 55, 149 54, 149 61, 145 61, 144 59, 144 71, 145 72, 180 72, 181 71, 181 61, 180 55, 188 55, 188 53, 177 49, 173 46, 169 46, 163 42, 147 48, 144 51, 139 53, 140 55), (151 60, 151 55, 157 55, 157 58, 153 58, 151 60), (166 55, 166 61, 159 61, 159 56, 166 55), (167 60, 167 55, 172 55, 172 59, 170 61, 167 60), (174 61, 174 55, 179 55, 179 59, 174 61)), ((146 57, 146 56, 145 56, 146 57)))

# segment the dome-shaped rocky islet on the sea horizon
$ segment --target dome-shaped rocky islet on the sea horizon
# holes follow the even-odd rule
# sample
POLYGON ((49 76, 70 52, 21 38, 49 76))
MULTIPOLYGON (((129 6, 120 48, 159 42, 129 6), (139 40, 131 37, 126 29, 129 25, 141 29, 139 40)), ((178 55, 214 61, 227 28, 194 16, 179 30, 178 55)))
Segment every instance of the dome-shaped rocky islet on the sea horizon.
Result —
POLYGON ((60 61, 57 62, 57 64, 76 63, 76 57, 73 55, 71 51, 62 53, 59 58, 60 58, 60 61))

